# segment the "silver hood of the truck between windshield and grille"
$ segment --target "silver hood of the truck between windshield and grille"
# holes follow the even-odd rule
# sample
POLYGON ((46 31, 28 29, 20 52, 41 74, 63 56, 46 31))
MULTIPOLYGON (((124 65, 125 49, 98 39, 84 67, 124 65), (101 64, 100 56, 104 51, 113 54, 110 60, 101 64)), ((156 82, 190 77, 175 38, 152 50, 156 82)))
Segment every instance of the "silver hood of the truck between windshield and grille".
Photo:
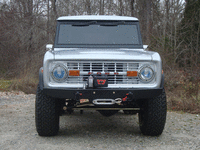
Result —
POLYGON ((71 48, 53 52, 56 60, 134 60, 151 61, 155 52, 143 49, 87 49, 71 48))

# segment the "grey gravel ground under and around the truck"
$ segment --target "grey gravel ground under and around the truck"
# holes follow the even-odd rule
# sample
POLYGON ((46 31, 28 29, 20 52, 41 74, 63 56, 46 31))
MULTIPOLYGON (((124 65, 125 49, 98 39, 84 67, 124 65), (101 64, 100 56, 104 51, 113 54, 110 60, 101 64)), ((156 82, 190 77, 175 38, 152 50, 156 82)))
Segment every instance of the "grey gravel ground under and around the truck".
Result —
POLYGON ((200 149, 200 115, 167 113, 159 137, 140 133, 137 115, 122 112, 104 117, 96 111, 75 111, 60 118, 60 132, 40 137, 35 129, 35 95, 0 92, 0 150, 187 150, 200 149))

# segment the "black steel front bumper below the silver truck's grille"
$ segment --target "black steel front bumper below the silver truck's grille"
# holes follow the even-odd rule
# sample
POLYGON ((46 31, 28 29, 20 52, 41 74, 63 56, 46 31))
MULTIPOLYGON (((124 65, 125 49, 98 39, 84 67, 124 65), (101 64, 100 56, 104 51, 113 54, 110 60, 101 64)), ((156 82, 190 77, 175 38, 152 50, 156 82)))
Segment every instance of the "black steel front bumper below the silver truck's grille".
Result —
POLYGON ((163 88, 156 89, 55 89, 43 88, 45 94, 63 99, 116 99, 131 93, 133 99, 150 99, 159 96, 163 88))

